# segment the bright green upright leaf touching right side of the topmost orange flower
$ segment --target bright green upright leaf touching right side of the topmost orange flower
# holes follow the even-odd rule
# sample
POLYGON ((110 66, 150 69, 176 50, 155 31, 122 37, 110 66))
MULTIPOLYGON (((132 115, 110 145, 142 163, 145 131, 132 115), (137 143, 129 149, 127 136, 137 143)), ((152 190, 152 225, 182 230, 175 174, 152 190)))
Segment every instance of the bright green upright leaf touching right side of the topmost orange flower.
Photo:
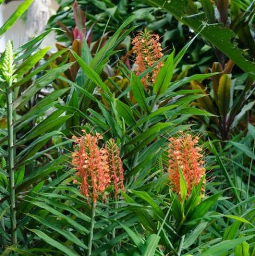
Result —
POLYGON ((153 92, 156 93, 156 95, 164 93, 172 80, 174 71, 173 58, 174 51, 171 53, 171 55, 169 55, 166 63, 164 63, 164 66, 157 75, 156 81, 153 85, 153 92))

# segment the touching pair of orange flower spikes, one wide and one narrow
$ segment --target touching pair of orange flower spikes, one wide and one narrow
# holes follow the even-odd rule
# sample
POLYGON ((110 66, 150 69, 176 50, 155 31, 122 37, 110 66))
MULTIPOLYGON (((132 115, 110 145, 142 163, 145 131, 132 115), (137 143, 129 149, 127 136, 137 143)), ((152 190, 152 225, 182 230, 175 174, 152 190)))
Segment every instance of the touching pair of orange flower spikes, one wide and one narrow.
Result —
MULTIPOLYGON (((84 134, 80 137, 73 136, 74 152, 72 154, 72 165, 77 170, 76 175, 81 178, 81 194, 92 196, 96 203, 100 194, 113 184, 115 193, 124 189, 122 161, 119 157, 119 148, 113 139, 107 145, 99 148, 98 140, 103 139, 101 135, 84 134)), ((74 183, 77 183, 74 180, 74 183)))

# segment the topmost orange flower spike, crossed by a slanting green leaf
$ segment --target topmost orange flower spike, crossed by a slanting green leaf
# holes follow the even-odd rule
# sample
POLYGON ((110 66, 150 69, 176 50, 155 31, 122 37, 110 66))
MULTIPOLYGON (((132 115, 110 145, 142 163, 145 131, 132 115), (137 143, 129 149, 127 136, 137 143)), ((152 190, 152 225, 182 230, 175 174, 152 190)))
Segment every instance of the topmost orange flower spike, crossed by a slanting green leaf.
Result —
MULTIPOLYGON (((161 43, 159 43, 159 35, 153 34, 152 31, 139 32, 132 41, 133 52, 136 54, 136 74, 140 75, 151 67, 154 63, 163 57, 161 43)), ((151 72, 142 78, 144 88, 152 85, 158 75, 159 70, 163 66, 163 62, 159 62, 151 72)))

